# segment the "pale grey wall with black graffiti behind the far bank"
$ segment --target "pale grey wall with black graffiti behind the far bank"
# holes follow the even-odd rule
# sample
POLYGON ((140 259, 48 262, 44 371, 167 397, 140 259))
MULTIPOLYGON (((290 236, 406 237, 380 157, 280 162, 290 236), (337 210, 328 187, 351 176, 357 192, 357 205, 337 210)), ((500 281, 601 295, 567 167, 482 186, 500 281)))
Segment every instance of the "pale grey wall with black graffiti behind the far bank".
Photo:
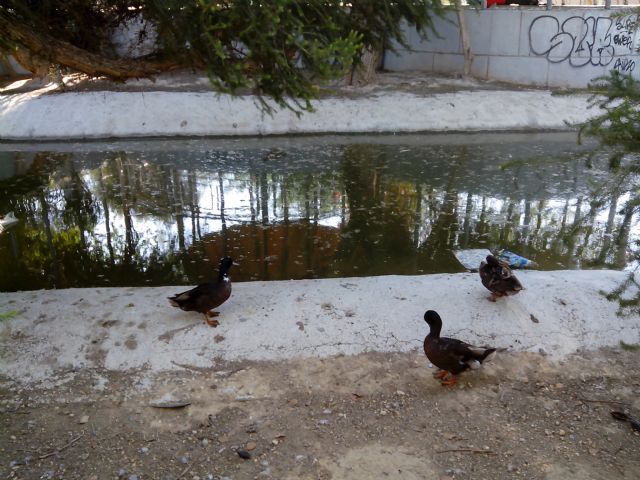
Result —
MULTIPOLYGON (((507 7, 467 9, 465 20, 478 78, 541 87, 584 87, 611 70, 640 78, 635 15, 619 9, 507 7)), ((436 22, 439 37, 406 28, 411 50, 385 52, 384 68, 460 73, 464 65, 454 12, 436 22)))

